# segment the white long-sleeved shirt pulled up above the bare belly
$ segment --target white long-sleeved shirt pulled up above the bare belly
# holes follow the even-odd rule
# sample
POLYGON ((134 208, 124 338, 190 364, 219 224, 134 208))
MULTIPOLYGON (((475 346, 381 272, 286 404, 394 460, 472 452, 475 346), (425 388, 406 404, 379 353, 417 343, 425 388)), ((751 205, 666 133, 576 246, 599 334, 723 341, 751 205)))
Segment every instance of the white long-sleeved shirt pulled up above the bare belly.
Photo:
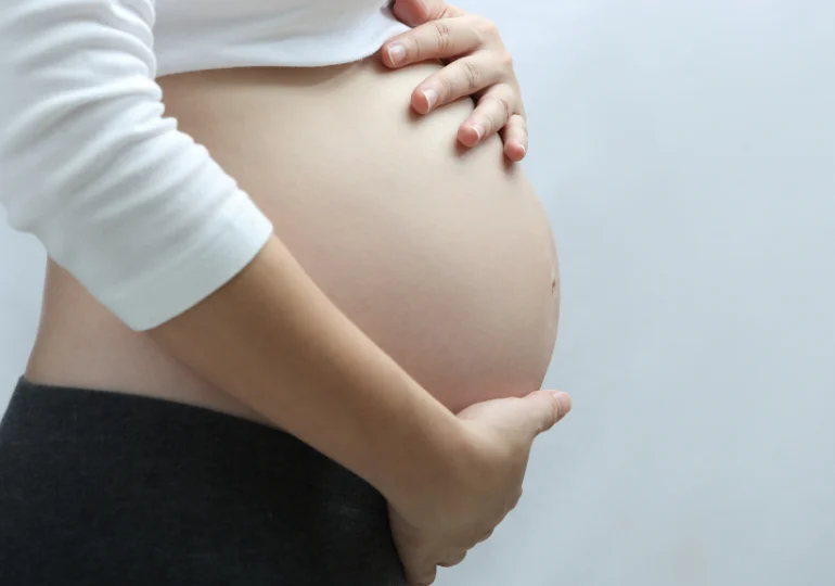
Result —
POLYGON ((380 0, 156 8, 159 54, 152 0, 0 2, 0 203, 14 228, 136 330, 205 298, 272 232, 207 151, 163 116, 157 75, 347 62, 402 30, 380 0))

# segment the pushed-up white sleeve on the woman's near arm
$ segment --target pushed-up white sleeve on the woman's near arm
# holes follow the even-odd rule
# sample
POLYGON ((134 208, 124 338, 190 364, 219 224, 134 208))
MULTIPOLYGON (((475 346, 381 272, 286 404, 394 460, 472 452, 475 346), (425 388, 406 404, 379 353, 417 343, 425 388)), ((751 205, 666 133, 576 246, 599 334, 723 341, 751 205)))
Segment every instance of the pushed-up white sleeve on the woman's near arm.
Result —
POLYGON ((270 221, 163 117, 152 0, 0 2, 0 203, 134 330, 246 266, 270 221))

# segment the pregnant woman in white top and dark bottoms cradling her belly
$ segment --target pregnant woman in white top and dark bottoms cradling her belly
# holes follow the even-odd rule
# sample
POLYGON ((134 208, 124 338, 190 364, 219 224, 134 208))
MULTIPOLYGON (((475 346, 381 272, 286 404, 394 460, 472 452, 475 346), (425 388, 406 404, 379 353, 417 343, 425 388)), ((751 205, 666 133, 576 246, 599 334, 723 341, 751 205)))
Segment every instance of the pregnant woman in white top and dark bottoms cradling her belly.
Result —
POLYGON ((0 199, 50 257, 3 586, 431 584, 515 506, 570 403, 512 68, 383 4, 0 5, 0 199))

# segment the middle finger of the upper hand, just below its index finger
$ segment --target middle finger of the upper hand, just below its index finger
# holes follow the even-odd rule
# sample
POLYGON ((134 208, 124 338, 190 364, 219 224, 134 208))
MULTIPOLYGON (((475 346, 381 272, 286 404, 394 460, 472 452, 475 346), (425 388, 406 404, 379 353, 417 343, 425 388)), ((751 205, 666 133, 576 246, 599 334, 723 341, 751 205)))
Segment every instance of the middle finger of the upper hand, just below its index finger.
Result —
MULTIPOLYGON (((412 92, 411 104, 418 113, 427 114, 438 106, 501 84, 504 79, 506 71, 496 59, 487 52, 478 52, 450 63, 427 77, 412 92)), ((502 97, 515 103, 515 98, 506 95, 506 91, 502 97)))

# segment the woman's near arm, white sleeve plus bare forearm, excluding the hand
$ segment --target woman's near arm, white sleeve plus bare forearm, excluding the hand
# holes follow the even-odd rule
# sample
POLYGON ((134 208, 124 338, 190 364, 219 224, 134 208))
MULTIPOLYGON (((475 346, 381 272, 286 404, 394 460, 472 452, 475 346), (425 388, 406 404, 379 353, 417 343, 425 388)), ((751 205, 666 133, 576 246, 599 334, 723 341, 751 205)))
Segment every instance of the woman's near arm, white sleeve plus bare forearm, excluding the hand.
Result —
POLYGON ((11 225, 128 327, 384 494, 442 473, 454 417, 325 298, 234 179, 163 116, 155 4, 129 4, 0 10, 11 225))

